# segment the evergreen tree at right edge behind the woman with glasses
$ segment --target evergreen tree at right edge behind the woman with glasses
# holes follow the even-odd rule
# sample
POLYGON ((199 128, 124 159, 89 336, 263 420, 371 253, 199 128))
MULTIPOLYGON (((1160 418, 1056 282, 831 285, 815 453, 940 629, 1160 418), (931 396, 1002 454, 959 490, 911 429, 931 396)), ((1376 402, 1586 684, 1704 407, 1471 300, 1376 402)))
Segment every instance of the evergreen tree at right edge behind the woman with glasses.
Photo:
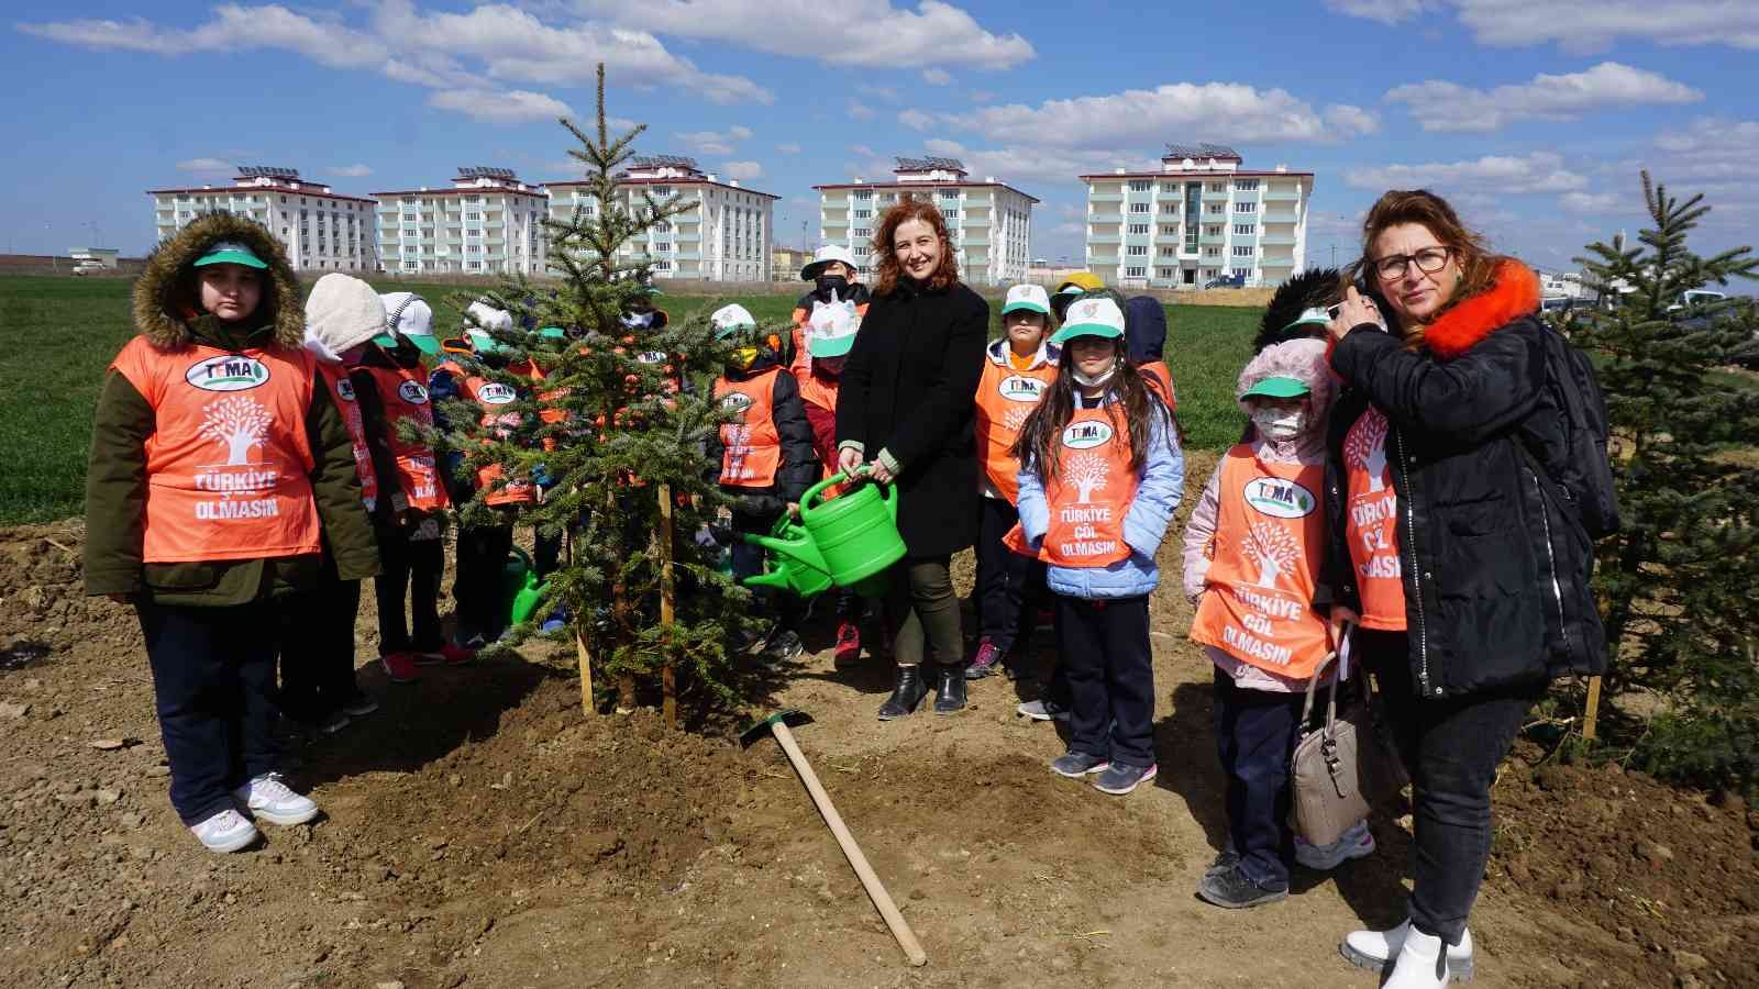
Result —
POLYGON ((1750 248, 1699 257, 1687 234, 1710 211, 1643 172, 1652 229, 1638 246, 1588 245, 1578 259, 1611 308, 1569 331, 1599 359, 1624 528, 1599 546, 1608 690, 1659 692, 1664 714, 1639 766, 1724 785, 1759 781, 1759 382, 1731 364, 1755 354, 1747 301, 1682 306, 1683 292, 1759 278, 1750 248))

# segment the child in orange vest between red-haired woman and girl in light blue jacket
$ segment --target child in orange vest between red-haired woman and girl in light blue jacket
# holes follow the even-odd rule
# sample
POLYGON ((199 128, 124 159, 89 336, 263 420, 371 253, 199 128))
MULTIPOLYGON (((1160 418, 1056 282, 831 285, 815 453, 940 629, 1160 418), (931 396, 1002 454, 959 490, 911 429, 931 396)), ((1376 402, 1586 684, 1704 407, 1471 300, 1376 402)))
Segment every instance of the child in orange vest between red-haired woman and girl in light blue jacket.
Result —
MULTIPOLYGON (((978 491, 983 494, 978 528, 978 653, 966 667, 966 679, 983 679, 997 665, 1010 676, 1022 665, 1029 586, 1043 586, 1045 567, 1011 553, 1003 542, 1020 521, 1020 461, 1013 443, 1020 426, 1038 408, 1045 389, 1057 380, 1062 348, 1050 343, 1050 297, 1043 285, 1015 285, 1001 308, 1006 334, 989 345, 983 377, 978 378, 974 431, 983 466, 978 491)), ((1068 697, 1048 699, 1052 707, 1068 697)), ((1054 711, 1052 711, 1054 713, 1054 711)))

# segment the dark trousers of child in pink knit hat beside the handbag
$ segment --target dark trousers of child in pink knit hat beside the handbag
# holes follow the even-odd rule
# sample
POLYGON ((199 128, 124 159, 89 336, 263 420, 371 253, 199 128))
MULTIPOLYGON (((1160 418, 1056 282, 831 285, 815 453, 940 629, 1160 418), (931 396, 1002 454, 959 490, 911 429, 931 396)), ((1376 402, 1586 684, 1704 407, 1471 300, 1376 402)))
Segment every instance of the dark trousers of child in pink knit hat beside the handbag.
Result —
POLYGON ((1215 670, 1215 753, 1228 776, 1228 845, 1258 885, 1286 889, 1295 832, 1289 831, 1289 758, 1300 736, 1300 693, 1247 690, 1215 670))

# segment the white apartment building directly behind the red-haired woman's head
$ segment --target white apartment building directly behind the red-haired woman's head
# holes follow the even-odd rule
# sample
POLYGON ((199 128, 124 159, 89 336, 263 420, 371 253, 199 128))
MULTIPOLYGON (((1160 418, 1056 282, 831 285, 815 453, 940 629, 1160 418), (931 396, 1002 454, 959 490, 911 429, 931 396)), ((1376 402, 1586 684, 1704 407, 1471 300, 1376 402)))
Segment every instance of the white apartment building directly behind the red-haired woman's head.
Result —
POLYGON ((902 197, 931 199, 946 218, 967 285, 1025 282, 1033 259, 1033 206, 1038 199, 985 176, 971 181, 957 158, 895 158, 892 181, 814 185, 818 239, 855 253, 862 278, 872 275, 872 236, 880 215, 902 197))

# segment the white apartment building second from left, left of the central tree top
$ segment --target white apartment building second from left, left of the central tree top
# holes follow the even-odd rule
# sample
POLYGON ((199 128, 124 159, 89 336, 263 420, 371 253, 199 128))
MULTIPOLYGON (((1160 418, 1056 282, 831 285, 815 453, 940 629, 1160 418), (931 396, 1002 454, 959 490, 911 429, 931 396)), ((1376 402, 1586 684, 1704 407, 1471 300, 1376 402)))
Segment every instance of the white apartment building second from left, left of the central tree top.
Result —
POLYGON ((383 269, 401 275, 542 275, 542 187, 508 169, 459 167, 450 188, 375 192, 383 269))

